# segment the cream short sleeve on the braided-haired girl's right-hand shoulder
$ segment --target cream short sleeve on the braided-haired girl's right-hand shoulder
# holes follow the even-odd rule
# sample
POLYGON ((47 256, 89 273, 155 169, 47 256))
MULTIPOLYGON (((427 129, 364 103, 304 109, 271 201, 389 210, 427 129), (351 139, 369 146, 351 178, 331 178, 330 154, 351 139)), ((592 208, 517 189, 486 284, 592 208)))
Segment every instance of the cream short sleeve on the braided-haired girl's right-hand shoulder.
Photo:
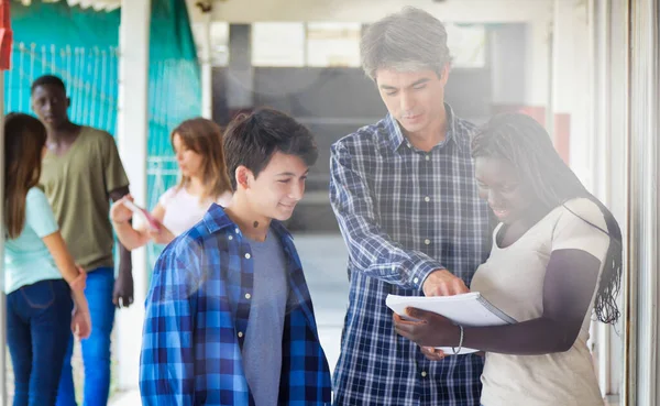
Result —
POLYGON ((568 201, 552 233, 552 251, 581 250, 603 260, 609 246, 607 224, 598 206, 588 199, 568 201))

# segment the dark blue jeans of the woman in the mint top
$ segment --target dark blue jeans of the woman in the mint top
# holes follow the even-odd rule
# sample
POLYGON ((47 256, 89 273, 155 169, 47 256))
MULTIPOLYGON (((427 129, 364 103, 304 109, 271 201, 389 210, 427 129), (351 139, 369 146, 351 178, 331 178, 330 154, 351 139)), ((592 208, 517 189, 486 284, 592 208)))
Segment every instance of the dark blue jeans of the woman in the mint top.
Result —
POLYGON ((41 281, 7 296, 7 343, 14 406, 54 405, 70 336, 73 301, 64 279, 41 281))

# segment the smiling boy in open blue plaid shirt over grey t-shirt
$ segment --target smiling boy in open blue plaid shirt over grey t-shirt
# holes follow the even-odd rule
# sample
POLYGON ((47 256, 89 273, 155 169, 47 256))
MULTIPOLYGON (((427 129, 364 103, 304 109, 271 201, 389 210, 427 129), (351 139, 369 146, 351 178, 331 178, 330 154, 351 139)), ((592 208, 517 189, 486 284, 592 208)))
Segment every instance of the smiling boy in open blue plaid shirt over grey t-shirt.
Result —
POLYGON ((309 290, 292 235, 278 222, 302 197, 316 144, 286 114, 258 110, 230 123, 224 153, 231 204, 212 205, 167 245, 154 270, 142 402, 330 405, 309 290))

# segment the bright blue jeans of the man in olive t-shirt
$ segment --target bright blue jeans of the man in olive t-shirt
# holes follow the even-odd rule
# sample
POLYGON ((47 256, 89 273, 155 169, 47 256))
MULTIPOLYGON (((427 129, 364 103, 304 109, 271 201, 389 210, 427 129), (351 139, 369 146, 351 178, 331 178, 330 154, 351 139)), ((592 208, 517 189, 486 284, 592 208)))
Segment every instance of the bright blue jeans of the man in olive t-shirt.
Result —
MULTIPOLYGON (((114 270, 99 267, 87 273, 87 287, 85 296, 89 304, 91 317, 91 334, 81 341, 82 364, 85 365, 85 406, 106 406, 110 392, 110 333, 114 322, 114 305, 112 290, 114 289, 114 270)), ((57 406, 75 406, 76 391, 72 371, 72 354, 74 338, 69 334, 69 342, 64 359, 57 406)))

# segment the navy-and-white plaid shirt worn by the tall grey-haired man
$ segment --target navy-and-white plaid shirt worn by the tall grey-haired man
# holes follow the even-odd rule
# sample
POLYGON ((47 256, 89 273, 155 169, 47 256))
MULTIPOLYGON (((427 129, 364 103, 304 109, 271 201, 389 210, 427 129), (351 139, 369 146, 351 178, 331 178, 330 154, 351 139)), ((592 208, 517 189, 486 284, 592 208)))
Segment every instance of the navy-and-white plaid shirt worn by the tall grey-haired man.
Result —
POLYGON ((479 355, 427 360, 394 331, 387 294, 421 296, 433 270, 468 286, 490 251, 487 205, 470 155, 474 127, 446 106, 430 152, 386 117, 332 145, 330 199, 349 249, 349 309, 334 372, 337 405, 479 405, 479 355))

